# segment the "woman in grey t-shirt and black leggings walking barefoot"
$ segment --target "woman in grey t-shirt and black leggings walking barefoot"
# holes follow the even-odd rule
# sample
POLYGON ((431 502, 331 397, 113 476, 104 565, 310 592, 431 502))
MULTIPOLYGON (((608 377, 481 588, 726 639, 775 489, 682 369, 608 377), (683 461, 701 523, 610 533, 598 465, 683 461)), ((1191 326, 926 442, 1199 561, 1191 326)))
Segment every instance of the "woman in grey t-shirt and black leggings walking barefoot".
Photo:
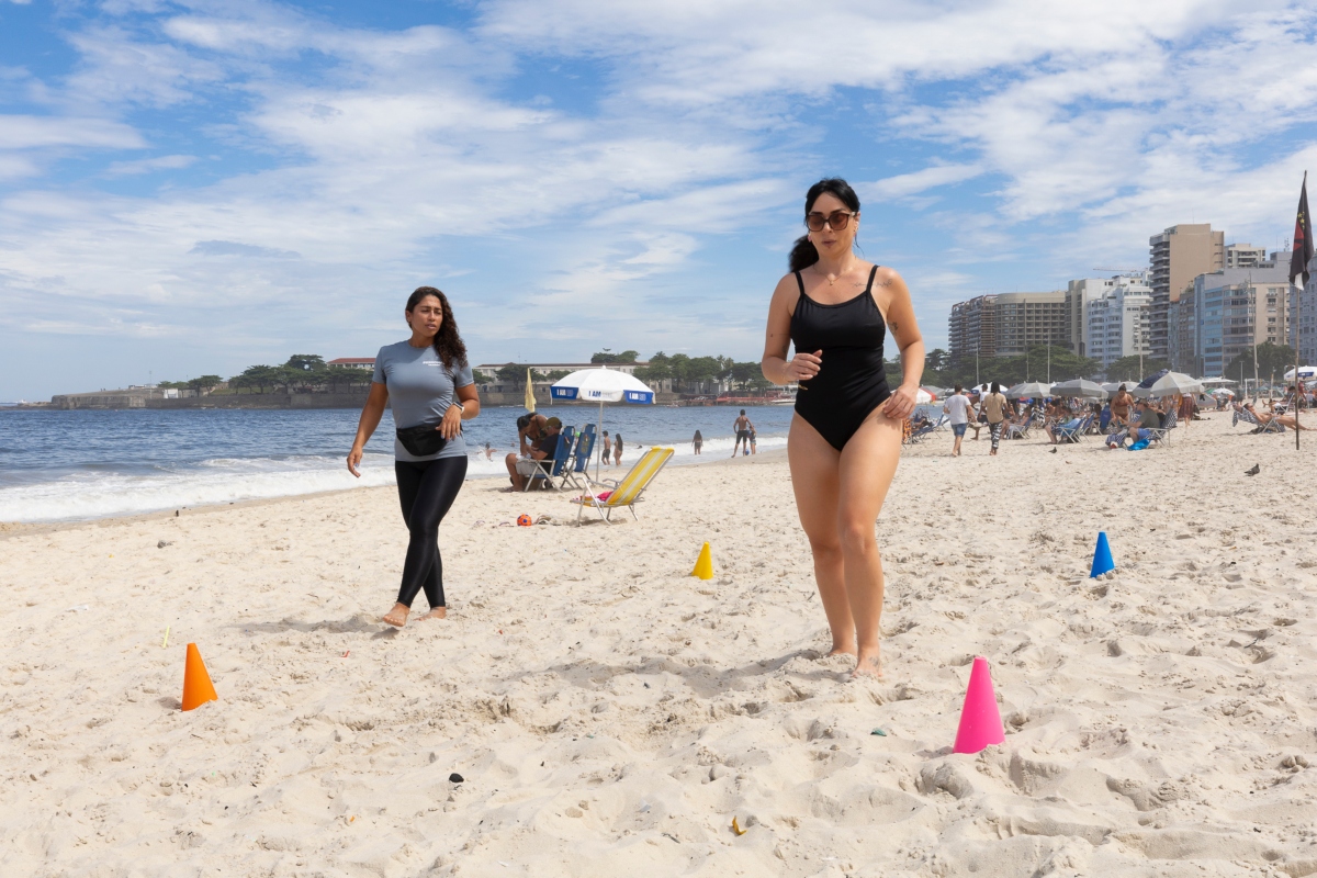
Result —
POLYGON ((379 426, 385 404, 391 404, 398 426, 394 438, 398 498, 411 532, 398 603, 385 616, 386 623, 398 628, 407 624, 412 600, 421 588, 429 602, 429 612, 421 619, 446 615, 439 523, 466 478, 462 421, 481 413, 466 345, 457 333, 448 297, 435 287, 417 287, 407 299, 406 316, 412 337, 379 349, 370 396, 348 454, 348 470, 360 478, 357 465, 366 440, 379 426))

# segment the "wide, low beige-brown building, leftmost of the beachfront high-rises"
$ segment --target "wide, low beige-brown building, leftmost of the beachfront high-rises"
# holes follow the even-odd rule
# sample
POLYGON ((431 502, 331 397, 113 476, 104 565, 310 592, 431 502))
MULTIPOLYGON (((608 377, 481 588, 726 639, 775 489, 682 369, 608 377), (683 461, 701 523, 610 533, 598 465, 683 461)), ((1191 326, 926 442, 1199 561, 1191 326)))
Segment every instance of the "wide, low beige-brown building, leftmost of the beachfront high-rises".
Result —
POLYGON ((1067 345, 1065 292, 1001 292, 951 305, 954 357, 1017 357, 1035 345, 1067 345))

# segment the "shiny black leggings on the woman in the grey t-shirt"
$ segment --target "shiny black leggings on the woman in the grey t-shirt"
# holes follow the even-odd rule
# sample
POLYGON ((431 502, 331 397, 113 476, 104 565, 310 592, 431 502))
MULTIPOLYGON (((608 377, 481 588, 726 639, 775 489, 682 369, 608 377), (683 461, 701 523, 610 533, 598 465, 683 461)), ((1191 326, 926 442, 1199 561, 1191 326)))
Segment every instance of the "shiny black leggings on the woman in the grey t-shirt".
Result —
POLYGON ((441 457, 435 461, 394 461, 398 474, 398 499, 403 504, 403 521, 411 532, 403 584, 398 603, 411 607, 416 592, 425 590, 431 608, 444 604, 444 562, 439 557, 439 523, 462 490, 466 478, 466 455, 441 457))

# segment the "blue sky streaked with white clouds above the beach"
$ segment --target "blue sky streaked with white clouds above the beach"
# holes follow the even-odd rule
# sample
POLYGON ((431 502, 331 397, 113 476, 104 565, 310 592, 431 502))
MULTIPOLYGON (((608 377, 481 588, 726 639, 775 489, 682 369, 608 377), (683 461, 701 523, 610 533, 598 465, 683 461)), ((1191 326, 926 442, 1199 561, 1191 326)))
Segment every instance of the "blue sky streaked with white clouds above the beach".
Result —
MULTIPOLYGON (((1317 3, 0 0, 0 400, 370 357, 759 359, 822 176, 955 301, 1285 246, 1317 3)), ((890 355, 890 354, 889 354, 890 355)))

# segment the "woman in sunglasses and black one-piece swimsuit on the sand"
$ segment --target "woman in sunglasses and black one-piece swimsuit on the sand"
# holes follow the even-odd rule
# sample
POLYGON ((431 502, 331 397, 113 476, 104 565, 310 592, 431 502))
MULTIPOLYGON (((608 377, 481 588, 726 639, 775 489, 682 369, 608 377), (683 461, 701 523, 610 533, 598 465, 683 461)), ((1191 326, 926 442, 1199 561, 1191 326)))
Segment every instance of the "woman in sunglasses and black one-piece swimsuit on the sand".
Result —
POLYGON ((792 249, 792 272, 769 304, 763 370, 777 384, 799 382, 786 452, 832 629, 830 654, 855 654, 852 675, 880 677, 882 562, 873 525, 901 457, 901 424, 914 411, 923 338, 901 275, 852 251, 860 199, 846 180, 810 187, 805 224, 809 234, 792 249), (896 390, 882 370, 884 324, 901 351, 896 390))

